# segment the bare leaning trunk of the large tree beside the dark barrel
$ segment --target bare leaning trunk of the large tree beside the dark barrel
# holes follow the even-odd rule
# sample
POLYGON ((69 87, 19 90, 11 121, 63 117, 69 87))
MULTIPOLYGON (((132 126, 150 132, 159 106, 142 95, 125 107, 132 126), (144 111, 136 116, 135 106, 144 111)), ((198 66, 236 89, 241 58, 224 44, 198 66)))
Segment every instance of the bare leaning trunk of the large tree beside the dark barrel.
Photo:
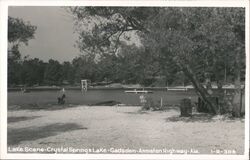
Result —
POLYGON ((202 98, 202 100, 208 105, 208 109, 212 114, 218 114, 218 109, 215 104, 211 101, 211 95, 203 87, 203 85, 198 81, 196 75, 193 73, 192 69, 188 65, 181 65, 181 69, 184 74, 192 82, 196 92, 202 98))

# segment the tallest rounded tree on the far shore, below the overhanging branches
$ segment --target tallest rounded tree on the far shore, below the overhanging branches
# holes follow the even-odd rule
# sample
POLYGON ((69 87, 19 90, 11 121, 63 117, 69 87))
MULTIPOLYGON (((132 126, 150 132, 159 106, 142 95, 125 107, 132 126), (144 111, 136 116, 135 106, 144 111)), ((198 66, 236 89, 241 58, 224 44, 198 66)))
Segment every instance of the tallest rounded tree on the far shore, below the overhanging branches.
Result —
MULTIPOLYGON (((120 77, 127 83, 139 83, 144 86, 152 85, 160 73, 157 55, 148 48, 138 48, 135 45, 122 45, 118 56, 120 77)), ((118 73, 118 75, 119 75, 118 73)))

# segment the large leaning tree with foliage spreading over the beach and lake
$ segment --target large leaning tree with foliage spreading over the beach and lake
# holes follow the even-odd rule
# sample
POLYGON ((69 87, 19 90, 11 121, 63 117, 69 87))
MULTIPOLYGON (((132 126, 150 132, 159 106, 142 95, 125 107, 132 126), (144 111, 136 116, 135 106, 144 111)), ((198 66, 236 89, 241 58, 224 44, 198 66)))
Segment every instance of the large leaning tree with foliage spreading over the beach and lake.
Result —
POLYGON ((74 7, 71 11, 81 24, 79 28, 82 24, 94 26, 78 30, 80 50, 116 53, 121 37, 136 31, 149 51, 160 59, 170 58, 166 65, 175 63, 212 113, 218 113, 218 109, 202 83, 221 79, 214 70, 221 65, 218 60, 227 57, 237 64, 235 79, 240 77, 239 57, 244 55, 245 45, 242 8, 74 7), (99 21, 93 24, 92 19, 99 21))

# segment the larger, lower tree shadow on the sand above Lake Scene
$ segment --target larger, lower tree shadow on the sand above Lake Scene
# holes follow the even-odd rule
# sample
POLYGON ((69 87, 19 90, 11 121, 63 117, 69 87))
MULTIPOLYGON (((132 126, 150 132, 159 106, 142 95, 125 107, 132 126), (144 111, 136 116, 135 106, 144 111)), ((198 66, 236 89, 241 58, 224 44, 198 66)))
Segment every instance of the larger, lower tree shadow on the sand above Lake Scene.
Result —
POLYGON ((22 141, 34 141, 40 138, 55 136, 61 132, 87 129, 75 123, 55 123, 42 127, 28 127, 20 129, 8 129, 8 145, 16 145, 22 141))

